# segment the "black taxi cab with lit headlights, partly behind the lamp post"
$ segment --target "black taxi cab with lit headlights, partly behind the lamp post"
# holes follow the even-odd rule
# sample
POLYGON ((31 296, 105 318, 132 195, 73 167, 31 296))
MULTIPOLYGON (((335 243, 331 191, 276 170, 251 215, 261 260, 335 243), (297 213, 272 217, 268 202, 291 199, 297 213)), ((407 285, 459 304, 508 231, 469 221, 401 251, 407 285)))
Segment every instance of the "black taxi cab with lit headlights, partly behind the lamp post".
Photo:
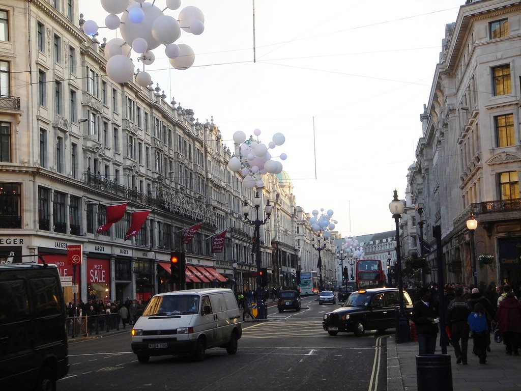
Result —
MULTIPOLYGON (((413 303, 403 292, 405 312, 411 315, 413 303)), ((353 292, 342 307, 324 314, 322 327, 329 335, 354 333, 361 336, 366 330, 384 331, 394 328, 395 315, 400 305, 398 288, 360 289, 353 292)))

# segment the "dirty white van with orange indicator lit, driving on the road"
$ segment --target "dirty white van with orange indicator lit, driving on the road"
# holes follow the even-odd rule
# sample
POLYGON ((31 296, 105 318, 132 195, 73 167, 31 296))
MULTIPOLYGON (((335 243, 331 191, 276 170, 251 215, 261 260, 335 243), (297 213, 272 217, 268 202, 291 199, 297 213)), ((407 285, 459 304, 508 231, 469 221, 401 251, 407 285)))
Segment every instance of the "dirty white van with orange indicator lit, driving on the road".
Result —
POLYGON ((206 288, 167 292, 152 297, 132 328, 132 351, 139 362, 151 356, 193 355, 206 349, 237 352, 241 315, 231 289, 206 288))

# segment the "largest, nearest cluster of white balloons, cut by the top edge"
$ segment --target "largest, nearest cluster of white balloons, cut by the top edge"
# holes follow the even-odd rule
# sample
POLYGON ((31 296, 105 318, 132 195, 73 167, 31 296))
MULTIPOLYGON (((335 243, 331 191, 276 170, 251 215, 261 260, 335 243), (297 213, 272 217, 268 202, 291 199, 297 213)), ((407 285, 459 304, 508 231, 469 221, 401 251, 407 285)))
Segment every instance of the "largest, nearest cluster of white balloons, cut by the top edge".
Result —
MULTIPOLYGON (((165 9, 175 10, 181 6, 181 0, 166 0, 166 8, 159 9, 145 0, 101 0, 102 7, 109 13, 105 25, 110 30, 119 28, 121 38, 114 38, 105 45, 107 57, 107 75, 117 83, 125 83, 134 75, 134 64, 129 58, 133 50, 138 59, 145 65, 155 60, 152 52, 159 45, 165 45, 165 54, 170 64, 176 69, 188 69, 192 66, 195 54, 185 44, 174 42, 181 36, 181 30, 199 35, 204 31, 204 15, 193 6, 184 7, 178 19, 163 14, 165 9), (123 14, 121 17, 118 14, 123 14)), ((83 23, 83 31, 88 35, 97 34, 98 26, 93 20, 83 23)), ((148 72, 139 72, 136 82, 145 87, 152 77, 148 72)))

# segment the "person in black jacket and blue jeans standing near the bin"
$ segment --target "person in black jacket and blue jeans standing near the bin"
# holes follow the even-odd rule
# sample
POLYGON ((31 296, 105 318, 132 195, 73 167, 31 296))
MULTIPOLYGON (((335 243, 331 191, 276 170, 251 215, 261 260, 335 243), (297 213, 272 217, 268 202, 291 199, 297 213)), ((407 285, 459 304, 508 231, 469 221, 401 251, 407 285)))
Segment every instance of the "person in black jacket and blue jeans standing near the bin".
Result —
POLYGON ((413 306, 413 321, 418 333, 419 355, 432 355, 438 337, 439 308, 432 300, 432 292, 426 287, 419 291, 420 299, 413 306))

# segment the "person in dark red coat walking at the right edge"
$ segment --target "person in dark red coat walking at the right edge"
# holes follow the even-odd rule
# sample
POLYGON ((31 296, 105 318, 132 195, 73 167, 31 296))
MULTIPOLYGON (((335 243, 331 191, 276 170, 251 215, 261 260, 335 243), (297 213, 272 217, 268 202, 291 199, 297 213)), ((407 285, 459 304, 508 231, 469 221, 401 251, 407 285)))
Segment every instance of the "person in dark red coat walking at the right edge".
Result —
POLYGON ((498 322, 499 331, 503 336, 506 354, 519 356, 519 345, 521 344, 521 304, 514 296, 510 285, 503 287, 505 296, 499 301, 494 320, 498 322))

